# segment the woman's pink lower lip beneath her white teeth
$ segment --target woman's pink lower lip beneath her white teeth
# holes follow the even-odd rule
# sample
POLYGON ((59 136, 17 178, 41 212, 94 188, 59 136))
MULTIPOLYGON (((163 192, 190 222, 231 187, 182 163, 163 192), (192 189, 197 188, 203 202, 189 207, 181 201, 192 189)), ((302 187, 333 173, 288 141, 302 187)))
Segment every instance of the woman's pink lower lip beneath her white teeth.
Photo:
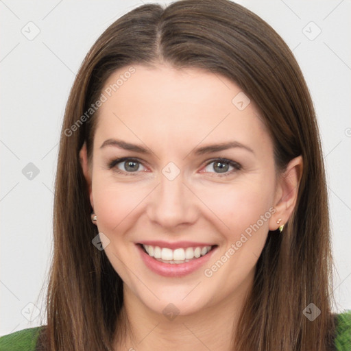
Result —
POLYGON ((160 276, 166 277, 181 277, 193 273, 193 271, 196 271, 197 269, 202 267, 202 265, 208 262, 210 257, 213 255, 213 252, 217 250, 216 246, 204 256, 195 258, 185 263, 171 264, 157 261, 155 258, 152 258, 146 252, 144 252, 143 247, 141 245, 137 244, 136 246, 138 247, 138 250, 141 253, 141 258, 143 259, 145 265, 147 265, 149 269, 159 274, 160 276))

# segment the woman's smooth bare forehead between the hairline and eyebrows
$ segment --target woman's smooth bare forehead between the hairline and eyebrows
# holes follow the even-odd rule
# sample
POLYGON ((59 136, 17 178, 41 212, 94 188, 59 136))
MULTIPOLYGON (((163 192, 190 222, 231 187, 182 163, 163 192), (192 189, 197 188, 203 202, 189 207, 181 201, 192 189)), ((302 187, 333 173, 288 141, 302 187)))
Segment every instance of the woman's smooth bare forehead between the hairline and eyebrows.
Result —
POLYGON ((128 73, 130 67, 123 67, 106 81, 96 130, 101 142, 123 134, 139 143, 157 138, 164 146, 196 145, 205 138, 208 143, 256 138, 271 146, 254 101, 227 77, 165 65, 133 68, 128 73))

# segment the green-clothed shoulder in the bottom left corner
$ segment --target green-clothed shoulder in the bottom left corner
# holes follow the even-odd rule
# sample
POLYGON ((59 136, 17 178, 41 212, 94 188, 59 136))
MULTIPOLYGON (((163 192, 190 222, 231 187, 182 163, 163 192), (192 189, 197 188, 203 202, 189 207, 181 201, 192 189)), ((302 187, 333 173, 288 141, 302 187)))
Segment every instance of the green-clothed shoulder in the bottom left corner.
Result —
POLYGON ((34 351, 41 328, 27 328, 0 337, 0 351, 34 351))

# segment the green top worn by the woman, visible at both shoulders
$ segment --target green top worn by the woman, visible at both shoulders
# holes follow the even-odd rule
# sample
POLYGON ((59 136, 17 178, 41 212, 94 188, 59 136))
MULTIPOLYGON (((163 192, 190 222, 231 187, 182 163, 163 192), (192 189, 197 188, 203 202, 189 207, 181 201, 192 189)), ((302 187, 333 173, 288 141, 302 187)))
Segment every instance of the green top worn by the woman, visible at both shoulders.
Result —
MULTIPOLYGON (((0 351, 36 351, 41 326, 12 332, 0 337, 0 351)), ((351 350, 351 310, 337 315, 335 351, 351 350)))

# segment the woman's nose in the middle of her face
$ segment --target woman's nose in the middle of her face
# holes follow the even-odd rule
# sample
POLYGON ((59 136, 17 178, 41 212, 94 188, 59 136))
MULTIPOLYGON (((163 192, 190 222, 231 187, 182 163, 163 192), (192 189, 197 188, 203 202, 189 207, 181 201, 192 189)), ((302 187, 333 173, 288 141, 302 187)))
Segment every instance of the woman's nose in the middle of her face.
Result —
POLYGON ((173 180, 161 173, 160 183, 150 195, 147 215, 158 226, 171 231, 195 222, 196 197, 184 184, 182 172, 173 180))

